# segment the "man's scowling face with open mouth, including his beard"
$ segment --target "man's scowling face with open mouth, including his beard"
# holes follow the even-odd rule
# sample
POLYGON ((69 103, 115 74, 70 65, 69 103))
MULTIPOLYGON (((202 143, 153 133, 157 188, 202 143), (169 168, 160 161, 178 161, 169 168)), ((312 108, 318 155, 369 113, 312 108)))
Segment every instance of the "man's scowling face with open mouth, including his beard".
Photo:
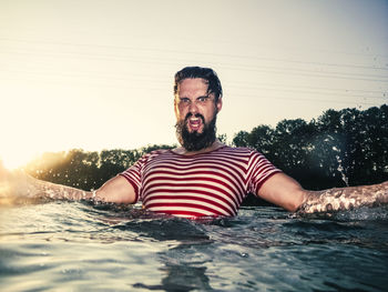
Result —
POLYGON ((178 140, 187 150, 197 151, 214 142, 215 117, 222 109, 222 99, 215 102, 214 94, 207 92, 205 80, 194 78, 181 81, 174 109, 178 140), (190 143, 194 142, 194 145, 184 143, 187 139, 190 143))

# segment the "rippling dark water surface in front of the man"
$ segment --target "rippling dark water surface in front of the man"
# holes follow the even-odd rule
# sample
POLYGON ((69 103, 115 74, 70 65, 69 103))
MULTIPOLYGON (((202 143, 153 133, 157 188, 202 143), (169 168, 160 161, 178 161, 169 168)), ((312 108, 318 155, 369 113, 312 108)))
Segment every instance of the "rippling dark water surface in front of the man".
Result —
POLYGON ((388 209, 188 221, 78 202, 0 209, 1 291, 387 291, 388 209))

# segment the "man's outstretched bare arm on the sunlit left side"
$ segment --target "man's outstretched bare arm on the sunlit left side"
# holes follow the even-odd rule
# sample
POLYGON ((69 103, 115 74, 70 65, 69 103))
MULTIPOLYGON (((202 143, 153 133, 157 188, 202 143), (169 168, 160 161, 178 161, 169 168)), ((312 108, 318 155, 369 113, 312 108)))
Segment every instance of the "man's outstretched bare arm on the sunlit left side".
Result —
POLYGON ((131 183, 121 175, 110 179, 95 192, 86 192, 62 184, 41 181, 21 171, 10 172, 0 164, 1 198, 50 198, 73 201, 93 200, 112 203, 134 203, 136 194, 131 183))

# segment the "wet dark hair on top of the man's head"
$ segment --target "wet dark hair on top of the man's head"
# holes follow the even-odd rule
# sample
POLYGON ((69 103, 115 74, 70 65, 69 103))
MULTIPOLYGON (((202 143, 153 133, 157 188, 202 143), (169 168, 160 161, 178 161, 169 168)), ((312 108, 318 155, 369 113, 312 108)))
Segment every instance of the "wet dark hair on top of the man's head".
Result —
POLYGON ((207 83, 207 93, 213 93, 215 101, 223 97, 223 89, 216 72, 211 68, 202 67, 185 67, 175 73, 174 95, 177 93, 178 84, 187 78, 204 79, 207 83))

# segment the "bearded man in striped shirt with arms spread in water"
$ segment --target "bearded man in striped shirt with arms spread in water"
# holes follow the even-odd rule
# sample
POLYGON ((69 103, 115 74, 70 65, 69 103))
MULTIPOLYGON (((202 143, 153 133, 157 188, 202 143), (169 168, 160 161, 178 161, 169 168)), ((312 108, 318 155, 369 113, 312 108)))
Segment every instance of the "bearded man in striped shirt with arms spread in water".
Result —
POLYGON ((190 219, 235 215, 248 192, 295 212, 324 212, 388 202, 388 182, 307 191, 257 151, 216 139, 223 94, 216 73, 187 67, 175 74, 176 135, 182 147, 145 154, 94 192, 28 178, 31 195, 132 204, 190 219))

